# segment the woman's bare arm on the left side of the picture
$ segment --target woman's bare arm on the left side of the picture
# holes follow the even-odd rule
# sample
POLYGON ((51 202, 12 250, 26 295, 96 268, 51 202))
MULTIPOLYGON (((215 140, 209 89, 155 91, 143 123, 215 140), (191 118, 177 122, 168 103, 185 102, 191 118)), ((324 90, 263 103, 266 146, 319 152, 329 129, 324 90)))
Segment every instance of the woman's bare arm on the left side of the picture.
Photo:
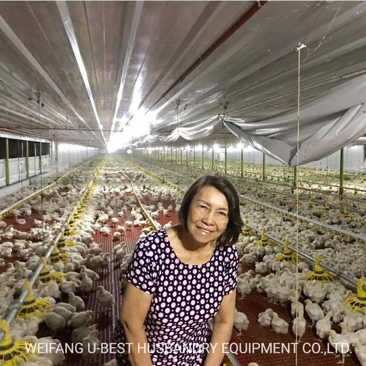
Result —
POLYGON ((130 345, 131 352, 128 355, 132 366, 152 366, 144 328, 144 321, 152 298, 152 295, 139 290, 130 283, 123 295, 121 321, 125 328, 126 340, 128 343, 132 343, 130 345))

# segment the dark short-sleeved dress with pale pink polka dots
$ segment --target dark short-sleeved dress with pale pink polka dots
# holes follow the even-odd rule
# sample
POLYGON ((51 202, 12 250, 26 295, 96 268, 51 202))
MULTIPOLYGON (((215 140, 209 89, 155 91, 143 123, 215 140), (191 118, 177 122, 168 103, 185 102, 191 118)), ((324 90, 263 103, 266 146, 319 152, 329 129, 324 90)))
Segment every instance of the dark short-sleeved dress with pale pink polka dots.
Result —
MULTIPOLYGON (((202 345, 211 339, 208 321, 223 296, 235 290, 238 265, 237 250, 221 246, 207 263, 185 264, 176 256, 165 229, 137 243, 127 279, 153 295, 144 325, 154 366, 203 365, 202 345)), ((127 342, 119 320, 115 336, 116 343, 127 342)), ((116 358, 118 365, 130 365, 127 351, 116 358)))

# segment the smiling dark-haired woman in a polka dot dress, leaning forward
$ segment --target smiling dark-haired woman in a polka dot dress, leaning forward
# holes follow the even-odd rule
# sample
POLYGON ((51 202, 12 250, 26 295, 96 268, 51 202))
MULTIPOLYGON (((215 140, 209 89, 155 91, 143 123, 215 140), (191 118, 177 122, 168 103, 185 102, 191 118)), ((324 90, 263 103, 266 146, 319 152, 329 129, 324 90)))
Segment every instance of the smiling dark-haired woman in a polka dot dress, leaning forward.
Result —
POLYGON ((178 225, 137 243, 116 325, 116 343, 125 344, 119 365, 220 365, 234 323, 233 244, 242 226, 233 185, 206 175, 185 193, 178 225))

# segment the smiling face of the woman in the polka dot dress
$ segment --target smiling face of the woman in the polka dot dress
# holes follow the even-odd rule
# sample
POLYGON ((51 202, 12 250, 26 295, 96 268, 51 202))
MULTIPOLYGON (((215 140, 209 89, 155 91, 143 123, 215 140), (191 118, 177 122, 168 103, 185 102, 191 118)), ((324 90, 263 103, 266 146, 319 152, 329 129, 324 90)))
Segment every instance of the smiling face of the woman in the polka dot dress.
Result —
POLYGON ((226 197, 215 187, 205 186, 193 197, 187 216, 187 229, 199 243, 216 240, 229 222, 226 197))

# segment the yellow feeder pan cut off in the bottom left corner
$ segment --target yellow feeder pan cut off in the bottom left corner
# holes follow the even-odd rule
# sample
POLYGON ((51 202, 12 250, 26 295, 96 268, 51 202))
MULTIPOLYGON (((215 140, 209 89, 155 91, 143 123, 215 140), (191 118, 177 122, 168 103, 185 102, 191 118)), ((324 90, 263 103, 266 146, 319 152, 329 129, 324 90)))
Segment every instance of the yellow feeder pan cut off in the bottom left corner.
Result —
POLYGON ((9 324, 4 319, 0 320, 0 330, 5 333, 3 341, 0 342, 0 364, 2 366, 17 366, 16 358, 18 357, 27 362, 26 348, 29 347, 30 343, 27 341, 13 342, 9 324))

